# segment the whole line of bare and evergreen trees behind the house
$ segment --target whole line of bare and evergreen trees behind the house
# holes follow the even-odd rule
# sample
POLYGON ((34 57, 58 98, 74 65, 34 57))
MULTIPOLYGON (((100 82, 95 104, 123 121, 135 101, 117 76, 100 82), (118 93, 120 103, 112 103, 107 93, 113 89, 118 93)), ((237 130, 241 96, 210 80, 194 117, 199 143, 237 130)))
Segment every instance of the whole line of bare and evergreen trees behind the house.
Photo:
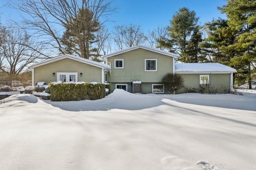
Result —
MULTIPOLYGON (((180 62, 219 62, 234 67, 237 84, 255 79, 256 2, 227 0, 219 7, 227 19, 199 24, 195 11, 180 8, 166 27, 143 31, 140 25, 106 22, 117 12, 107 0, 21 0, 22 22, 1 27, 0 70, 19 74, 30 63, 59 54, 94 61, 137 45, 177 53, 180 62)), ((145 29, 145 28, 144 28, 145 29)))

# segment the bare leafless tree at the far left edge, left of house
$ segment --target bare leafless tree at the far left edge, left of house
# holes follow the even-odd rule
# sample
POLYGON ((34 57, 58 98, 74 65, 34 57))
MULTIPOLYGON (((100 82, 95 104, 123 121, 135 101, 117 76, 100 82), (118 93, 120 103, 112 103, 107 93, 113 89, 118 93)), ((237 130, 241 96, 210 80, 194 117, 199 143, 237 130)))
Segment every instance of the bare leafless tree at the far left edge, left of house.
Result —
POLYGON ((42 46, 25 30, 1 27, 0 37, 0 71, 10 77, 21 73, 41 56, 38 51, 42 46))

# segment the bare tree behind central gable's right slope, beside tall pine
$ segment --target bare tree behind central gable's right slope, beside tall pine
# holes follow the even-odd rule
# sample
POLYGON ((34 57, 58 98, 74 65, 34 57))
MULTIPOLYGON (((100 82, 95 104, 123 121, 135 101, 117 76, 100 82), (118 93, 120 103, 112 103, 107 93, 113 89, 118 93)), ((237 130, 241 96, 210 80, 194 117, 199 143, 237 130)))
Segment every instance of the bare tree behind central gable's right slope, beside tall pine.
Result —
POLYGON ((150 47, 164 50, 165 48, 163 46, 159 46, 158 42, 166 39, 167 37, 168 37, 168 32, 166 30, 166 27, 158 26, 156 30, 148 32, 147 43, 149 44, 150 47))

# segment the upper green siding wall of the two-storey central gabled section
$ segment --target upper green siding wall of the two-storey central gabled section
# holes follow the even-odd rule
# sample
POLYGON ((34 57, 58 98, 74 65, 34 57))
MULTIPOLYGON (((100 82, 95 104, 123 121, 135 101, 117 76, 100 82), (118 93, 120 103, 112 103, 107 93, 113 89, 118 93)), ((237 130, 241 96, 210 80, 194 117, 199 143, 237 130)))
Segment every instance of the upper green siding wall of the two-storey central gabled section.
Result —
POLYGON ((111 63, 111 82, 160 82, 166 73, 173 73, 173 58, 146 49, 107 58, 111 63), (115 69, 115 60, 124 60, 124 69, 115 69), (145 59, 157 59, 157 71, 145 71, 145 59))

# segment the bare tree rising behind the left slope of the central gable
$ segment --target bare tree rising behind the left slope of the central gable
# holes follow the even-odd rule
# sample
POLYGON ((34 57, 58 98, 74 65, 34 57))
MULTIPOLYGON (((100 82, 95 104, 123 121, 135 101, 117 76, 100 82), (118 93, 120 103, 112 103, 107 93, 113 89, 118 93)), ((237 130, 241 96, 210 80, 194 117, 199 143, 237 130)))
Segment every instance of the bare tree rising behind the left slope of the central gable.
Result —
POLYGON ((140 25, 117 25, 114 30, 114 41, 119 50, 124 47, 133 47, 144 44, 147 36, 144 35, 140 25))

